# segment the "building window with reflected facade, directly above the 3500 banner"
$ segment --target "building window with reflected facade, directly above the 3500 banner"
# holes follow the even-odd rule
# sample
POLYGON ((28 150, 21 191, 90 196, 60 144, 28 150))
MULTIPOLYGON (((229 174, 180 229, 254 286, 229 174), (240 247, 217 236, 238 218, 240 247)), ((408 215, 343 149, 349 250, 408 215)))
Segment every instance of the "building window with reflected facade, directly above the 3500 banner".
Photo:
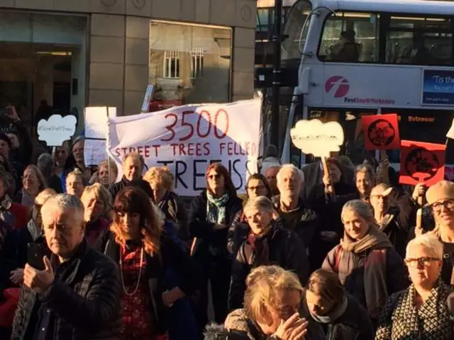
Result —
POLYGON ((232 29, 150 21, 150 111, 231 100, 232 29))

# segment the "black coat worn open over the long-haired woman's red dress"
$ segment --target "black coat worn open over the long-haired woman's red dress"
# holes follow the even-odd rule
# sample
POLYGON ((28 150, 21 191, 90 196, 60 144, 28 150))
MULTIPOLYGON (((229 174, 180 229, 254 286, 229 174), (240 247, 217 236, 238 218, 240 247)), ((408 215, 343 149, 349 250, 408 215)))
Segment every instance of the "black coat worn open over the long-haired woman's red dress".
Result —
MULTIPOLYGON (((115 235, 112 232, 106 230, 101 234, 96 243, 96 249, 104 252, 119 266, 120 246, 115 242, 115 235)), ((179 280, 178 287, 186 295, 192 295, 200 287, 201 274, 191 256, 165 235, 160 238, 160 254, 153 257, 146 254, 145 258, 147 261, 146 277, 150 292, 153 292, 150 311, 156 324, 157 333, 164 334, 168 325, 167 307, 162 302, 162 293, 165 291, 163 288, 165 271, 167 269, 174 271, 179 280)))

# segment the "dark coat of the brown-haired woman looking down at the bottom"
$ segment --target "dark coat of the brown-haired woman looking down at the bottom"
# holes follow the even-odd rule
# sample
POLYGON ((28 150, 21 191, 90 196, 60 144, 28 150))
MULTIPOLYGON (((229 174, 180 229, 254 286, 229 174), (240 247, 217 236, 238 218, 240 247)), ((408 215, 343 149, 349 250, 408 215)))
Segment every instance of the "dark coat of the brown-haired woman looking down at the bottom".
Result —
MULTIPOLYGON (((330 324, 319 325, 326 333, 326 340, 374 340, 375 331, 370 321, 369 313, 359 304, 355 297, 347 295, 347 309, 341 317, 330 324)), ((301 304, 304 314, 310 315, 306 297, 301 304)), ((310 317, 316 322, 316 319, 310 317)))

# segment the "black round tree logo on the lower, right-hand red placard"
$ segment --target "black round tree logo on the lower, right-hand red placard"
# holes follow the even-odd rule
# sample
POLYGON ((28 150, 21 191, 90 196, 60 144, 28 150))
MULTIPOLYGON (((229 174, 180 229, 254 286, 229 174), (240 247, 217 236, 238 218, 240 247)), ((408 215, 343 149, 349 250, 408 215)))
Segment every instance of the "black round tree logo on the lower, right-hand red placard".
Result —
POLYGON ((406 173, 416 181, 422 182, 432 179, 436 176, 439 168, 440 162, 437 155, 422 147, 412 149, 406 155, 406 173))

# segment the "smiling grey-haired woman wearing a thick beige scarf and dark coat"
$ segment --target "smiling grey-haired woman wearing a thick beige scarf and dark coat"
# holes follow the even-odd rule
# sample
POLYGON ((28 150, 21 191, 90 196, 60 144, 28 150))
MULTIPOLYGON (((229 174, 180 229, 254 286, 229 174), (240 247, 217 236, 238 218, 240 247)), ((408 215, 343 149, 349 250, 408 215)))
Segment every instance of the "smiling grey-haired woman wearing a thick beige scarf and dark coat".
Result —
POLYGON ((376 322, 389 295, 406 287, 404 262, 380 231, 367 203, 348 201, 341 219, 343 239, 328 253, 322 268, 337 273, 345 290, 376 322))

